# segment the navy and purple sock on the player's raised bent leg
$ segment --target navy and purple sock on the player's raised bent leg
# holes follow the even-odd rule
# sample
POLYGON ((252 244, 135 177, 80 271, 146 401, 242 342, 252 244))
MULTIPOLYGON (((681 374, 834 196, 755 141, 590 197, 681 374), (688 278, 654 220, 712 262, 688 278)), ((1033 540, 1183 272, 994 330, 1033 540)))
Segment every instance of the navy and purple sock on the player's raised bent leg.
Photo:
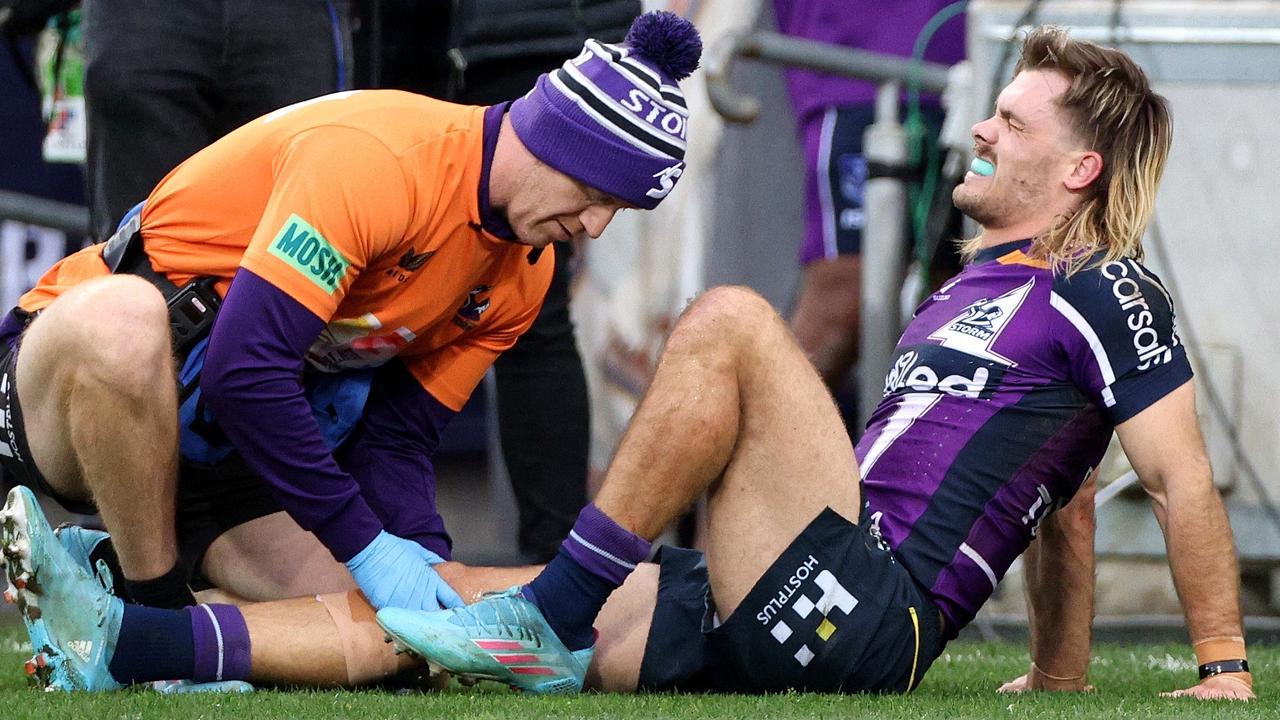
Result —
POLYGON ((559 552, 522 593, 570 650, 589 647, 595 642, 591 623, 604 601, 649 557, 649 541, 588 505, 559 552))

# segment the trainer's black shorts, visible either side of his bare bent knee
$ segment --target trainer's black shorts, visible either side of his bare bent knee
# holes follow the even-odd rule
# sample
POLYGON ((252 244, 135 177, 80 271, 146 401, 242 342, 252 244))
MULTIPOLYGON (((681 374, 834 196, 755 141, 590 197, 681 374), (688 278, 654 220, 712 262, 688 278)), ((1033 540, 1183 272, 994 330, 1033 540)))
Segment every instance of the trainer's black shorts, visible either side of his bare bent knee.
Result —
MULTIPOLYGON (((10 350, 0 342, 0 468, 6 480, 38 491, 72 512, 97 512, 92 502, 56 492, 31 459, 22 406, 14 387, 17 364, 18 350, 10 350)), ((271 496, 266 483, 238 455, 232 455, 218 465, 183 460, 178 470, 175 524, 179 561, 192 578, 192 587, 209 587, 200 575, 200 565, 218 536, 280 510, 280 503, 271 496)))

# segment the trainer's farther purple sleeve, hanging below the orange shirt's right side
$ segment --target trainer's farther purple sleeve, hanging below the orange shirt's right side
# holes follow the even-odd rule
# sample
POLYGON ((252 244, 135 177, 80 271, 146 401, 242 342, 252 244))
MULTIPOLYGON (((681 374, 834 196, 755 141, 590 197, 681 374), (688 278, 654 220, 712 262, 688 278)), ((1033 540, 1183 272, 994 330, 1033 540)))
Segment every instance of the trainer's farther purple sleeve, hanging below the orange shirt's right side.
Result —
POLYGON ((408 368, 392 360, 374 377, 360 427, 337 454, 388 532, 445 560, 453 541, 435 510, 431 457, 453 415, 408 368))

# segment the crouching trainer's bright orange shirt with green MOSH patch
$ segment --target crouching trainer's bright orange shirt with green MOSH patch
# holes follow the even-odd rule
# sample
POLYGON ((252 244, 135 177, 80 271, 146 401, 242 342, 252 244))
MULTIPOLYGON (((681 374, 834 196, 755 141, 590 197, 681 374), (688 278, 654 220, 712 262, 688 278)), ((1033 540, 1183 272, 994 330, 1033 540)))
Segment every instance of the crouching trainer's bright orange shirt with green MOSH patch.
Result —
MULTIPOLYGON (((553 265, 481 228, 484 113, 389 90, 270 113, 160 181, 142 211, 151 264, 178 286, 221 278, 223 295, 246 268, 328 323, 315 368, 401 356, 460 410, 534 322, 553 265)), ((19 305, 102 274, 101 246, 84 249, 19 305)))

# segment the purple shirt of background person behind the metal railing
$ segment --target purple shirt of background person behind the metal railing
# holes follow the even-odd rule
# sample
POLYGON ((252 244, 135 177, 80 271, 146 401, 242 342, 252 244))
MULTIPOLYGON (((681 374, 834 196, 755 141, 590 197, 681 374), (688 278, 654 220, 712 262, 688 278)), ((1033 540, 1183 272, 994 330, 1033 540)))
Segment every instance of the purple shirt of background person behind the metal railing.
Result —
MULTIPOLYGON (((846 47, 911 56, 924 23, 951 0, 774 0, 778 32, 846 47)), ((924 59, 954 65, 964 59, 964 17, 942 24, 924 59)), ((876 85, 813 70, 790 69, 787 90, 801 127, 823 108, 868 104, 876 85)), ((936 100, 934 100, 936 102, 936 100)))

